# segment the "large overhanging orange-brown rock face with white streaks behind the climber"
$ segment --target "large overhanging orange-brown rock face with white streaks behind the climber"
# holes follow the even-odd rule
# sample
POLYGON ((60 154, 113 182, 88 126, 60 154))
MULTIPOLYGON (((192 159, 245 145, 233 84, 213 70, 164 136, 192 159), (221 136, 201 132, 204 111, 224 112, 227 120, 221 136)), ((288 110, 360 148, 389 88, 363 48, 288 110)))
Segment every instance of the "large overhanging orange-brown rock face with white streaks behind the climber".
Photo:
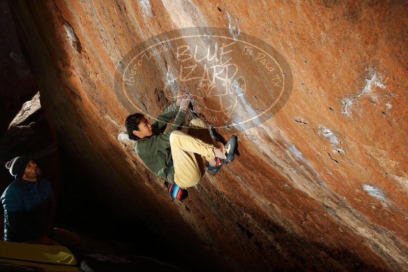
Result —
POLYGON ((123 214, 237 270, 406 269, 405 2, 10 4, 49 122, 123 214), (179 88, 239 139, 184 203, 117 140, 179 88))

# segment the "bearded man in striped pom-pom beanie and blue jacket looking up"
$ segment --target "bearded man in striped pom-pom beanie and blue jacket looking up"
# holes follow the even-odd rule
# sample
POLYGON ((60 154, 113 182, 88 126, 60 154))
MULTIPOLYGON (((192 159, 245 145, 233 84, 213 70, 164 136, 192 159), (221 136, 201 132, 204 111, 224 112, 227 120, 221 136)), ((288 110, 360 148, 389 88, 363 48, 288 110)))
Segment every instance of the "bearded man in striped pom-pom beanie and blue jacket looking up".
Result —
POLYGON ((31 156, 19 156, 7 162, 15 180, 4 191, 4 239, 37 244, 79 243, 77 234, 54 228, 55 199, 50 182, 40 178, 41 169, 31 156))

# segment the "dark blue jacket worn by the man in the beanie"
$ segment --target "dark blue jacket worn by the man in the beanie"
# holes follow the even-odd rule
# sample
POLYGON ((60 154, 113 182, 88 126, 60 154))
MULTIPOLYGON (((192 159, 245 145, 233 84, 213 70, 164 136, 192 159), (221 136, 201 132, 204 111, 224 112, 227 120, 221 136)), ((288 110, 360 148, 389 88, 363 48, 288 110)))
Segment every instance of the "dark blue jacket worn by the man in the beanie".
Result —
POLYGON ((33 241, 53 230, 55 201, 48 180, 14 180, 4 191, 1 201, 6 241, 33 241))

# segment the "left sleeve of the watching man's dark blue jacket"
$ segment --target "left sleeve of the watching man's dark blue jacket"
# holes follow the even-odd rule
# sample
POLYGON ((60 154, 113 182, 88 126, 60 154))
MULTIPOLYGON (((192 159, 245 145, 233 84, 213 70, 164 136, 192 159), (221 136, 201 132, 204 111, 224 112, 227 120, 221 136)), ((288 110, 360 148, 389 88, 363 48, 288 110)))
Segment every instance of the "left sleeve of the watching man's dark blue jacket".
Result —
POLYGON ((10 228, 20 237, 38 235, 25 220, 23 200, 15 187, 7 188, 2 196, 4 215, 10 228))

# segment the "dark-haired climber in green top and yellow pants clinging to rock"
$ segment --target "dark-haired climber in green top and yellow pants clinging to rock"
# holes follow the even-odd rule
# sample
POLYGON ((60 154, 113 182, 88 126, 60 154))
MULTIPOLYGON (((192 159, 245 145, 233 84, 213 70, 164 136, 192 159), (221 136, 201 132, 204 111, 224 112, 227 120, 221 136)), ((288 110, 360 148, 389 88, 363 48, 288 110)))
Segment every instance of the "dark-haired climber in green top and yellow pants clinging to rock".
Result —
POLYGON ((217 173, 223 164, 233 161, 237 142, 233 135, 221 148, 210 144, 208 129, 203 129, 208 126, 201 119, 191 120, 188 133, 177 130, 184 121, 190 101, 191 96, 181 90, 176 101, 153 124, 150 125, 140 113, 128 116, 125 121, 129 138, 136 141, 134 150, 146 167, 182 188, 195 186, 206 168, 217 173), (173 123, 164 133, 174 115, 173 123))

